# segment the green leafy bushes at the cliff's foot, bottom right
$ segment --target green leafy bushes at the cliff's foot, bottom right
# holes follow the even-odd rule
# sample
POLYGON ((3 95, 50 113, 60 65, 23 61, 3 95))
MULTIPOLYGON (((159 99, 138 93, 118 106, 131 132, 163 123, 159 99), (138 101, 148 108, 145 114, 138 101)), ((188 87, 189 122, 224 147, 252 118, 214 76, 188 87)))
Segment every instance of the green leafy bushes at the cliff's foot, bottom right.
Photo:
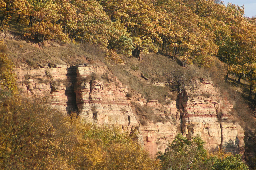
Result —
POLYGON ((159 153, 162 169, 246 170, 239 154, 232 155, 222 150, 208 155, 204 141, 197 136, 188 140, 178 134, 168 145, 165 153, 159 153))

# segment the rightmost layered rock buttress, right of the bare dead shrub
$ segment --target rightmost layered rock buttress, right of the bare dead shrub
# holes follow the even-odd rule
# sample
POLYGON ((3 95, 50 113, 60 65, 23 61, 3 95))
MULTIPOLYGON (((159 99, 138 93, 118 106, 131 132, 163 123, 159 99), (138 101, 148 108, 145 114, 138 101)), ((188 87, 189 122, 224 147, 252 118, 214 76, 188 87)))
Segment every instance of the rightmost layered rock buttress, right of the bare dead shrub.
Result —
POLYGON ((200 135, 206 142, 205 148, 223 148, 228 152, 244 152, 244 130, 232 122, 229 114, 233 106, 213 83, 196 79, 193 88, 179 97, 179 111, 182 134, 188 139, 200 135))

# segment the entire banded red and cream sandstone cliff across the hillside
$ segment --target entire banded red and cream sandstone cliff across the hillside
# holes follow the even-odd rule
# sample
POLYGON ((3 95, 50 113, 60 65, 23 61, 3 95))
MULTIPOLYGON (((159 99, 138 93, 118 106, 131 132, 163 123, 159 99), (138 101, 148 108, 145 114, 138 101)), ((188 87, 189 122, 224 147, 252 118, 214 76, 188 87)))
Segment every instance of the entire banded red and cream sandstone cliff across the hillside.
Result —
POLYGON ((127 97, 127 88, 105 66, 49 65, 16 73, 25 96, 48 95, 64 113, 77 110, 88 122, 138 129, 138 141, 152 156, 164 152, 179 132, 188 139, 200 135, 210 151, 244 154, 244 130, 229 114, 233 106, 206 79, 194 79, 191 88, 160 104, 127 97), (150 110, 152 119, 142 120, 139 107, 150 110))

